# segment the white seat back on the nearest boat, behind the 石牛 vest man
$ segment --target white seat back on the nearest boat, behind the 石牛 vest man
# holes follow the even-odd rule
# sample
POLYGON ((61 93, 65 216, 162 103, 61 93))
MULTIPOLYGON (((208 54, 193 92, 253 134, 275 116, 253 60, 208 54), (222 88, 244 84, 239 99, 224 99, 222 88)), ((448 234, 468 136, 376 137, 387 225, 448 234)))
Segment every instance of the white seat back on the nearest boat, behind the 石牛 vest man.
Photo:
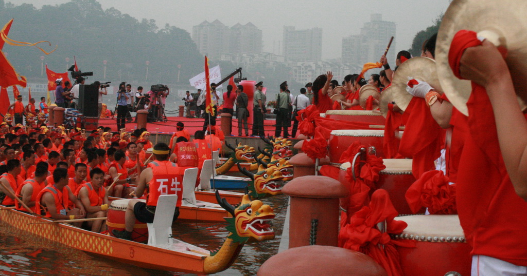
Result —
POLYGON ((158 205, 155 208, 154 221, 147 223, 148 244, 171 244, 172 239, 172 219, 174 218, 175 205, 178 202, 178 195, 162 195, 158 198, 158 205))

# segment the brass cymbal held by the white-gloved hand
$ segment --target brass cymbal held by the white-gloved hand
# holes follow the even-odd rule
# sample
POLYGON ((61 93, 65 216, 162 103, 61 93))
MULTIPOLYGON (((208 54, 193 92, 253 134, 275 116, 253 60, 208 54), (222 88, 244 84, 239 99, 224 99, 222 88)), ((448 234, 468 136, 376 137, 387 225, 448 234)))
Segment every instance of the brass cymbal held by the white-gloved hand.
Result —
POLYGON ((406 62, 399 65, 395 71, 392 79, 393 99, 397 106, 403 111, 406 110, 408 104, 412 100, 412 95, 406 91, 406 84, 408 78, 426 81, 440 94, 443 94, 443 89, 437 78, 435 60, 427 57, 413 57, 406 60, 406 62))

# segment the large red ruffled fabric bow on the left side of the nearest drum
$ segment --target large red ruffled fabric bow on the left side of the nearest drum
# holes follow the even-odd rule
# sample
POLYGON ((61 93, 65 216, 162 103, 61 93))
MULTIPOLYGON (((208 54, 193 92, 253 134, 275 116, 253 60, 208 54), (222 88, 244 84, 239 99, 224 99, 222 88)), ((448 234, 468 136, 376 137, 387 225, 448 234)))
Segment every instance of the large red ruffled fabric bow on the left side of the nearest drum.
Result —
POLYGON ((394 220, 397 215, 388 192, 383 189, 376 190, 369 206, 364 206, 353 214, 349 219, 350 223, 340 229, 339 247, 369 255, 388 275, 403 275, 395 246, 415 247, 415 241, 390 238, 389 234, 400 234, 407 227, 406 222, 394 220), (377 223, 383 221, 386 221, 386 233, 377 229, 377 223))

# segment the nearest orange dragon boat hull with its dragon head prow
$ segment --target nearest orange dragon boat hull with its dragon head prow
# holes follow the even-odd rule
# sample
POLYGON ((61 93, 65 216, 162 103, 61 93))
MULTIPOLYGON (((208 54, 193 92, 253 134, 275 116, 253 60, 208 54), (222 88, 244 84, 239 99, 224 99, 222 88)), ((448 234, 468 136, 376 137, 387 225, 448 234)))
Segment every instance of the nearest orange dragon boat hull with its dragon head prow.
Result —
POLYGON ((225 219, 229 231, 225 242, 218 250, 212 251, 174 238, 169 238, 170 242, 163 244, 143 244, 91 232, 66 223, 42 223, 52 220, 4 206, 0 206, 0 224, 66 247, 142 268, 211 274, 229 268, 245 243, 266 241, 275 237, 274 230, 269 225, 275 214, 269 205, 264 205, 260 200, 251 200, 249 195, 243 196, 237 208, 221 199, 218 194, 217 199, 232 217, 225 219))

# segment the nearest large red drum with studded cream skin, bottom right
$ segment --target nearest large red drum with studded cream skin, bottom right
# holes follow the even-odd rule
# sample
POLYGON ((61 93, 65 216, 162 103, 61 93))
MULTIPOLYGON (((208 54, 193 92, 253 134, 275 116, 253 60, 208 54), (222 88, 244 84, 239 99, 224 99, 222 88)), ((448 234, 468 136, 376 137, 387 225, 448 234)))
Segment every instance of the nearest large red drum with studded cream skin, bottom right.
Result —
MULTIPOLYGON (((415 248, 397 247, 401 268, 412 275, 470 275, 471 246, 466 243, 457 214, 397 217, 408 227, 392 239, 415 240, 415 248)), ((504 249, 506 250, 506 249, 504 249)))

